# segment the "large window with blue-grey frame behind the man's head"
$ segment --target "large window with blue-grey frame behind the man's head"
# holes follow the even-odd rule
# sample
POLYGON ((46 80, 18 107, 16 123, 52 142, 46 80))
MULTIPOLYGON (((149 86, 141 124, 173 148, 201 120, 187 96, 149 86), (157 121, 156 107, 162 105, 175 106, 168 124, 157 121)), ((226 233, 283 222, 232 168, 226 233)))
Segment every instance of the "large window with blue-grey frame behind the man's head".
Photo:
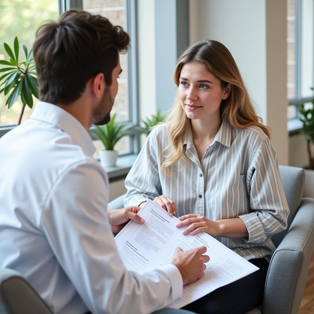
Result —
MULTIPOLYGON (((58 18, 58 12, 69 8, 84 9, 92 14, 107 17, 112 24, 121 25, 131 37, 131 49, 127 54, 120 55, 123 69, 119 79, 119 91, 115 99, 112 113, 117 113, 117 121, 125 122, 130 127, 130 136, 122 138, 115 149, 119 154, 138 153, 139 134, 135 130, 138 124, 137 87, 136 87, 136 30, 135 30, 135 3, 132 0, 3 0, 0 2, 0 59, 7 58, 3 42, 13 46, 17 35, 20 43, 30 48, 35 40, 35 33, 40 23, 47 19, 58 18), (70 6, 68 6, 68 4, 70 6), (22 21, 22 22, 21 22, 22 21), (132 83, 132 84, 131 84, 132 83)), ((0 136, 14 127, 19 118, 22 106, 19 100, 10 109, 5 107, 6 96, 0 95, 0 136)), ((35 106, 35 99, 34 99, 35 106)), ((31 114, 26 106, 23 120, 31 114)), ((93 137, 91 128, 91 136, 93 137)), ((96 147, 101 147, 100 141, 94 141, 96 147)), ((95 154, 97 157, 97 153, 95 154)))

